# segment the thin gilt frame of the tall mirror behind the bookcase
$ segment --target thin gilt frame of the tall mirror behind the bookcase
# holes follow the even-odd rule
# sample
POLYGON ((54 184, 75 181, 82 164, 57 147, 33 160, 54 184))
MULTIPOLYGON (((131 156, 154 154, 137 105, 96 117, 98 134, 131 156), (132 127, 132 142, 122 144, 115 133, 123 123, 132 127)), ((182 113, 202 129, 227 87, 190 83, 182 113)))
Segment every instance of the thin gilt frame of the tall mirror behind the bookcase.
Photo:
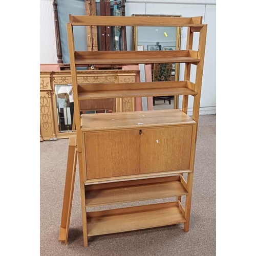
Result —
MULTIPOLYGON (((162 14, 132 14, 132 16, 160 16, 160 17, 181 17, 181 15, 162 15, 162 14)), ((133 50, 136 51, 138 47, 138 27, 132 27, 132 47, 133 50)), ((176 27, 176 50, 180 50, 180 43, 181 43, 181 27, 176 27)), ((175 63, 175 81, 179 80, 180 74, 180 64, 175 63)), ((179 108, 179 96, 174 96, 174 109, 179 108)))

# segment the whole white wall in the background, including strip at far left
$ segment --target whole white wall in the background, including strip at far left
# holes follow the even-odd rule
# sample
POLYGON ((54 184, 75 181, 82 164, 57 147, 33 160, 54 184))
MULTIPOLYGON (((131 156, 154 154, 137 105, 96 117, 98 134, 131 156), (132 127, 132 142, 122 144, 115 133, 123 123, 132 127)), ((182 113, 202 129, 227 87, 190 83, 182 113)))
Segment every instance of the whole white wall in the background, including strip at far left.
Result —
MULTIPOLYGON (((127 0, 125 15, 176 14, 183 17, 202 16, 208 25, 200 114, 216 114, 216 0, 127 0)), ((52 0, 40 0, 40 63, 57 63, 52 0)), ((127 31, 127 50, 132 49, 132 29, 127 31)), ((186 28, 181 32, 181 49, 186 47, 186 28)), ((198 35, 194 45, 198 45, 198 35)), ((197 48, 194 48, 197 50, 197 48)), ((196 67, 192 65, 191 81, 195 81, 196 67)), ((184 77, 184 65, 180 68, 184 77)), ((179 108, 181 108, 181 99, 179 108)), ((193 97, 189 96, 188 114, 191 114, 193 97)))

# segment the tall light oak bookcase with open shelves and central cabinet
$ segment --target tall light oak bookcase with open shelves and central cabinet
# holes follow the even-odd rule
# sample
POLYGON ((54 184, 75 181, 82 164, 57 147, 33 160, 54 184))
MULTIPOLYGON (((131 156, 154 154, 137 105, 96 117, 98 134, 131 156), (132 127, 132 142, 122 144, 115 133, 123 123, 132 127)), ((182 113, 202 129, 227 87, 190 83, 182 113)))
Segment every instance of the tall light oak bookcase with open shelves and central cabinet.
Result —
POLYGON ((72 16, 67 24, 74 90, 84 246, 100 234, 184 223, 189 229, 207 25, 202 17, 72 16), (75 51, 74 26, 187 27, 186 50, 75 51), (193 35, 199 33, 198 50, 193 35), (77 67, 185 63, 183 81, 77 82, 77 67), (190 81, 191 65, 196 80, 190 81), (80 115, 79 100, 183 95, 181 110, 80 115), (193 116, 187 115, 194 96, 193 116), (183 174, 187 173, 187 179, 183 174), (185 196, 185 204, 181 197, 185 196), (90 207, 175 197, 176 201, 89 211, 90 207))

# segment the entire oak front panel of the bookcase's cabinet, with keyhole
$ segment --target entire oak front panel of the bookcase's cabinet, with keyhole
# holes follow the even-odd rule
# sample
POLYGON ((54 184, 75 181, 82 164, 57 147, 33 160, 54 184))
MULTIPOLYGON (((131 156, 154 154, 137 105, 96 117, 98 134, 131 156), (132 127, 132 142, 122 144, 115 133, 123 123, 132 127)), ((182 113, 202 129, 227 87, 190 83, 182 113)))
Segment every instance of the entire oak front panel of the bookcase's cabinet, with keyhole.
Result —
POLYGON ((88 179, 188 169, 192 129, 187 125, 86 133, 88 179))

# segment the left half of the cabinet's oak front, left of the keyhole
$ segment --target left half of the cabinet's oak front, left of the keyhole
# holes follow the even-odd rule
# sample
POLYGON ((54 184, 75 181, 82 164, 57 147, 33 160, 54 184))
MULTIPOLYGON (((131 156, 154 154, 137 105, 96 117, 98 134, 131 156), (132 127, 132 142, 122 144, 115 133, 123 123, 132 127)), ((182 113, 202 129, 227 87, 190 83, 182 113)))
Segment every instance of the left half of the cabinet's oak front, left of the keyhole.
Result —
POLYGON ((85 133, 87 178, 139 173, 139 130, 85 133))

